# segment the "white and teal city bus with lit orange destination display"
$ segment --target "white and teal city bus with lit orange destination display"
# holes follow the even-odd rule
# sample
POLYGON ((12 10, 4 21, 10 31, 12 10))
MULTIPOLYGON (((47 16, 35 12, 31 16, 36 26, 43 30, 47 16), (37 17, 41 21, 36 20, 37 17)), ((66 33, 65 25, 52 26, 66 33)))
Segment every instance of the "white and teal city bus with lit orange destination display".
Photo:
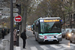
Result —
POLYGON ((60 17, 45 17, 34 21, 33 34, 38 42, 62 41, 62 20, 60 17))

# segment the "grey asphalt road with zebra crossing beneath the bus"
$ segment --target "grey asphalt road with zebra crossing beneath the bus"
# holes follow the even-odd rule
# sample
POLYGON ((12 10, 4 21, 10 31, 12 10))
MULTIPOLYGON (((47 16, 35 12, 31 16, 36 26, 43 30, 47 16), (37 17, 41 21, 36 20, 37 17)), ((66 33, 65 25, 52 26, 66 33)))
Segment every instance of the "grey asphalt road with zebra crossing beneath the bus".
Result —
POLYGON ((70 43, 69 40, 62 39, 59 44, 54 42, 41 43, 35 41, 32 31, 27 31, 27 49, 26 50, 75 50, 75 44, 70 43))

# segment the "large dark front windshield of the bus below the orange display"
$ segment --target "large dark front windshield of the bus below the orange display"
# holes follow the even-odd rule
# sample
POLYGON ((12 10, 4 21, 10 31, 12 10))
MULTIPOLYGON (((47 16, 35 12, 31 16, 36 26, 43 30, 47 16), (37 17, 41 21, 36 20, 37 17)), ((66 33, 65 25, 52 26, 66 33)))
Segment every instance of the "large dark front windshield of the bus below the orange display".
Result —
POLYGON ((41 22, 41 32, 43 33, 60 33, 61 32, 60 22, 41 22))

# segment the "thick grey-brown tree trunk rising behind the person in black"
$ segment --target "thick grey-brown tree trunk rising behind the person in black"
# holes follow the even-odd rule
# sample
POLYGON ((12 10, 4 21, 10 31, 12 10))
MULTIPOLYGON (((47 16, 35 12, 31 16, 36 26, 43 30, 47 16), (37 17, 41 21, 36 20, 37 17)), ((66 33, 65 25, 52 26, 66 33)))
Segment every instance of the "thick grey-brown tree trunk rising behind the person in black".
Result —
POLYGON ((28 7, 31 4, 31 0, 17 0, 17 3, 21 4, 21 15, 22 15, 22 31, 26 29, 26 22, 27 22, 27 14, 28 14, 28 7))

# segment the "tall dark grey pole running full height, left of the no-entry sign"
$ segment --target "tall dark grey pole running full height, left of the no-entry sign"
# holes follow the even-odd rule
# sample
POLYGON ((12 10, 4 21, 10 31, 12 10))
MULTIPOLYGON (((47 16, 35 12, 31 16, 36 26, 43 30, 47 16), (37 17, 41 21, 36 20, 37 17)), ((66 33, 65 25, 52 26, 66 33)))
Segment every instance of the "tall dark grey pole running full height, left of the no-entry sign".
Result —
POLYGON ((10 50, 13 50, 13 0, 10 0, 10 17, 11 17, 10 50))

